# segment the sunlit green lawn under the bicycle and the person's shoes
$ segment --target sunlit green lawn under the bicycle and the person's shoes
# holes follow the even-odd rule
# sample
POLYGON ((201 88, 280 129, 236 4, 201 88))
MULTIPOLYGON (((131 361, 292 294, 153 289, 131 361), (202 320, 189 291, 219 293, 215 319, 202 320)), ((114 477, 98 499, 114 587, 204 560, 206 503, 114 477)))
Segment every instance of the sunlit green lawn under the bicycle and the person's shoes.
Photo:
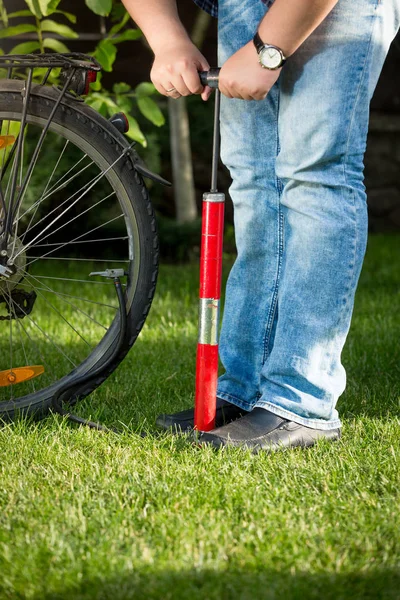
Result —
POLYGON ((136 346, 77 407, 123 435, 0 431, 0 597, 399 599, 399 248, 371 237, 342 440, 271 456, 153 433, 194 387, 197 266, 163 267, 136 346))

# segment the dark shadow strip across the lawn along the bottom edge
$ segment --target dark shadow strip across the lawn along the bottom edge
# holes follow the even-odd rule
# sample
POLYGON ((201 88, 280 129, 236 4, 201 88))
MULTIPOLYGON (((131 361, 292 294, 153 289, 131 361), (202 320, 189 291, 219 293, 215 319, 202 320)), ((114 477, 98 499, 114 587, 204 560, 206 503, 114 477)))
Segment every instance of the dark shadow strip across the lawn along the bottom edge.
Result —
POLYGON ((400 573, 289 573, 266 569, 132 571, 112 579, 83 578, 35 600, 398 600, 400 573))

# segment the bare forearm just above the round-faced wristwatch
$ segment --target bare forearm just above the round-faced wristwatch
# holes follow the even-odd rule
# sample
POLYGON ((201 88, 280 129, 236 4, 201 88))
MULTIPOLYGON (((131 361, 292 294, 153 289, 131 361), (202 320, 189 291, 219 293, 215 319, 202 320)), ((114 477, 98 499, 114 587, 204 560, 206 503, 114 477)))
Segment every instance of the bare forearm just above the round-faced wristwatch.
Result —
POLYGON ((258 32, 266 44, 290 56, 322 23, 338 0, 275 0, 258 32))

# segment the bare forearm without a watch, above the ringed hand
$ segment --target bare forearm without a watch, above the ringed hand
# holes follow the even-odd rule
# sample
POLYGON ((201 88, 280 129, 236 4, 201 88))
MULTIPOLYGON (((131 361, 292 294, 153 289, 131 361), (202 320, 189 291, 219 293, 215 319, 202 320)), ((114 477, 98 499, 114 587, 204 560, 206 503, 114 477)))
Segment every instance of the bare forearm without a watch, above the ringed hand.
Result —
POLYGON ((177 42, 191 43, 181 23, 176 0, 122 0, 132 19, 143 31, 151 49, 176 45, 177 42))

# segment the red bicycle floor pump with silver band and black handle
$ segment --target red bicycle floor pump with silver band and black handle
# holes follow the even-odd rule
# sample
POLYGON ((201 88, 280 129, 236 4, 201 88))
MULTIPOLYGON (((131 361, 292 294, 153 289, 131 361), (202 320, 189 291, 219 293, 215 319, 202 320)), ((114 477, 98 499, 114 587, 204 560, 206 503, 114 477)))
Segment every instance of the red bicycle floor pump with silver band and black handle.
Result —
POLYGON ((218 326, 221 299, 222 243, 225 194, 217 189, 220 149, 219 69, 200 73, 203 85, 215 88, 211 189, 203 195, 200 252, 199 338, 196 357, 194 426, 210 431, 215 426, 218 380, 218 326))

